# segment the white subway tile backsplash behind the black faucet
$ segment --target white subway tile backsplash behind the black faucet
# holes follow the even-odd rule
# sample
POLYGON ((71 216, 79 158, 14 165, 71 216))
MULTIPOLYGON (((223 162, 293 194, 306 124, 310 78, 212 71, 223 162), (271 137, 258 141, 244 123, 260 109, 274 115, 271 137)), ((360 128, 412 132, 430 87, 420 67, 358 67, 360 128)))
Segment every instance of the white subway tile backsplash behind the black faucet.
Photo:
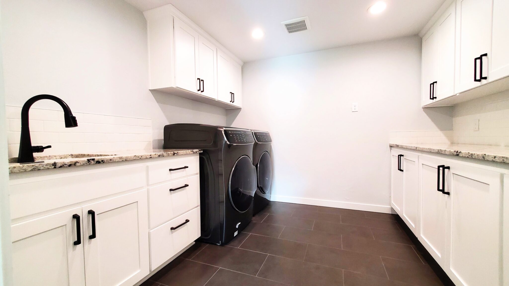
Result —
MULTIPOLYGON (((7 141, 10 157, 18 155, 21 131, 19 106, 6 106, 7 141)), ((64 111, 30 109, 33 145, 51 145, 44 155, 97 153, 152 148, 152 121, 92 113, 73 112, 78 126, 66 128, 64 111)), ((41 153, 42 154, 42 153, 41 153)))

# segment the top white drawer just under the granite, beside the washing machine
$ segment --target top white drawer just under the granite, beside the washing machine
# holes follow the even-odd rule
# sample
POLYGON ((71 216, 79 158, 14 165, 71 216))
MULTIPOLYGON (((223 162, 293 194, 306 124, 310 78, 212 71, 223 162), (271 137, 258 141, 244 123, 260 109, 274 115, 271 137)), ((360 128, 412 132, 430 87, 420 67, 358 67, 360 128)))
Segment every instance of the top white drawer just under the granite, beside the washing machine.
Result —
POLYGON ((161 163, 149 165, 149 185, 198 174, 200 169, 199 156, 176 157, 161 163), (172 169, 172 170, 170 170, 172 169))

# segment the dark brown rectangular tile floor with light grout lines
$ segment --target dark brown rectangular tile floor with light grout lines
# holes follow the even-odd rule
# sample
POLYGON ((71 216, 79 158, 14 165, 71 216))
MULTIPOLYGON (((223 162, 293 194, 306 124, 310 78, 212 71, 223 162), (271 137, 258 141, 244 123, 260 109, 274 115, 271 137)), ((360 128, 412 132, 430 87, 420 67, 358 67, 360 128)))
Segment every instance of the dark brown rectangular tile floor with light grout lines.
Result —
POLYGON ((395 219, 271 202, 227 246, 196 242, 142 286, 443 285, 395 219))

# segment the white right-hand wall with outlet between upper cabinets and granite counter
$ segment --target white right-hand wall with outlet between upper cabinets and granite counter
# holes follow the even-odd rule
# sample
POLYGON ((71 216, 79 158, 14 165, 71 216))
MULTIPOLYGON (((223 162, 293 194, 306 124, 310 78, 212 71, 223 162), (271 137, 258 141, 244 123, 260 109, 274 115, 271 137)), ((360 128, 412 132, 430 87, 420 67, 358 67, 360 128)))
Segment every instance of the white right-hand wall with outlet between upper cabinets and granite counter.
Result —
POLYGON ((509 146, 509 91, 455 105, 453 133, 455 143, 509 146))

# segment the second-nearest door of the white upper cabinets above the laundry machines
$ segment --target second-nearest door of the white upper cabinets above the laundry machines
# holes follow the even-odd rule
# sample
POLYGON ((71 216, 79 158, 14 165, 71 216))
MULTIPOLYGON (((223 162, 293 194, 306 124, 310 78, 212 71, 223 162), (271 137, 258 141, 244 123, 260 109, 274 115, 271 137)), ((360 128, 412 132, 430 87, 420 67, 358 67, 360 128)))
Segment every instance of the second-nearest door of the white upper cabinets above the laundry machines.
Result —
POLYGON ((201 35, 199 36, 199 40, 200 42, 198 56, 200 58, 200 73, 198 77, 200 78, 202 84, 201 91, 199 93, 217 99, 217 49, 211 42, 209 42, 201 35))

